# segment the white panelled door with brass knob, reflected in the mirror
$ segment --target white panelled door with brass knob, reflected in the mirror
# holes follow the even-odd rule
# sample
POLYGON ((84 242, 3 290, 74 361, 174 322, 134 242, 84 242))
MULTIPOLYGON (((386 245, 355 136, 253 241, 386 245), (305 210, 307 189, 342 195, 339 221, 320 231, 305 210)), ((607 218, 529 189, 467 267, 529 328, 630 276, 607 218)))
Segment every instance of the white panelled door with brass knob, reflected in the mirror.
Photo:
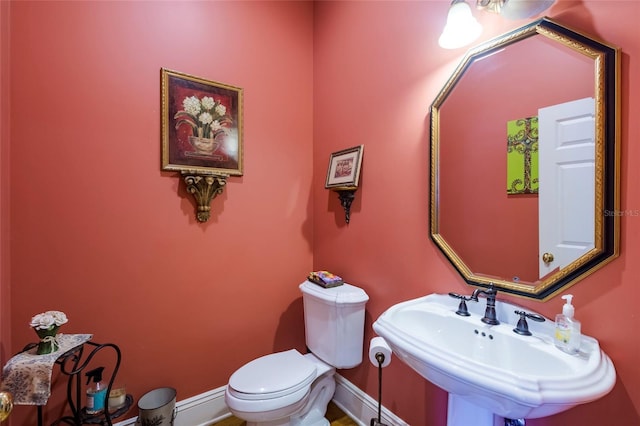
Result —
POLYGON ((594 116, 593 98, 538 110, 540 278, 595 246, 594 116))

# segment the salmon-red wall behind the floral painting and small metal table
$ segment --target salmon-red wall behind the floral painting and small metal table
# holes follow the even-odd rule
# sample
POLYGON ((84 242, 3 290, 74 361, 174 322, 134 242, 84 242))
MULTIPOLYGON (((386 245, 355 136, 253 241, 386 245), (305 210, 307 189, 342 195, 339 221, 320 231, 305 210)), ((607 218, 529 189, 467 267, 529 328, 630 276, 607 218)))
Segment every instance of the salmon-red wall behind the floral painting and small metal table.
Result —
MULTIPOLYGON (((161 386, 186 399, 259 355, 304 350, 297 285, 312 267, 312 5, 9 9, 2 241, 11 275, 2 288, 11 312, 2 324, 12 340, 3 332, 3 361, 34 340, 29 321, 47 309, 67 313, 63 332, 120 346, 119 377, 136 400, 161 386), (204 224, 179 174, 160 171, 161 67, 244 89, 245 174, 228 179, 204 224)), ((47 424, 62 393, 56 379, 47 424)), ((34 416, 19 406, 12 424, 34 416)))

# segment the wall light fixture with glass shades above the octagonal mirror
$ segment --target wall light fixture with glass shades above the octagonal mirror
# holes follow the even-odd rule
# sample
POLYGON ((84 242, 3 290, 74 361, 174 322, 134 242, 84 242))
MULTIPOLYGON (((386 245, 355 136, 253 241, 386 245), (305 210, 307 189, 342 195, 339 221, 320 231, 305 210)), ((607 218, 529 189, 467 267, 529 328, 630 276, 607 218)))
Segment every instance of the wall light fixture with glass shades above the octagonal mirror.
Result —
MULTIPOLYGON (((476 0, 476 7, 486 12, 498 13, 506 19, 525 19, 547 10, 555 0, 476 0)), ((444 49, 457 49, 476 40, 482 26, 471 14, 465 0, 453 0, 447 15, 447 23, 438 39, 444 49)))

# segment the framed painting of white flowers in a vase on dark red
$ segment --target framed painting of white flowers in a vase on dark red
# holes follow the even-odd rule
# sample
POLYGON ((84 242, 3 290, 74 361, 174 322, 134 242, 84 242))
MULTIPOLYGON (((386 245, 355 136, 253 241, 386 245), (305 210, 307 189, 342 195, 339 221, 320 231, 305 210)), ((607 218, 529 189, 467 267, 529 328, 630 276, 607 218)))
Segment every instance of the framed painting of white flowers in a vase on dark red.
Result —
POLYGON ((162 170, 242 175, 242 89, 165 68, 162 170))

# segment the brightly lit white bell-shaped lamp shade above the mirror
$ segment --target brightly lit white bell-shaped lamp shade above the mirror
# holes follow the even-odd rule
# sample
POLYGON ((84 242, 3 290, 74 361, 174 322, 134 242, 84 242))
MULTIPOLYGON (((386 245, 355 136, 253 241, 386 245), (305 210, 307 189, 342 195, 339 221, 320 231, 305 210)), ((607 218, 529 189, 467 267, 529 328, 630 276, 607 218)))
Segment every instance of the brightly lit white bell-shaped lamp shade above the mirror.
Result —
POLYGON ((444 49, 457 49, 470 44, 482 33, 482 26, 471 14, 471 8, 464 1, 455 1, 449 8, 447 24, 438 39, 444 49))

